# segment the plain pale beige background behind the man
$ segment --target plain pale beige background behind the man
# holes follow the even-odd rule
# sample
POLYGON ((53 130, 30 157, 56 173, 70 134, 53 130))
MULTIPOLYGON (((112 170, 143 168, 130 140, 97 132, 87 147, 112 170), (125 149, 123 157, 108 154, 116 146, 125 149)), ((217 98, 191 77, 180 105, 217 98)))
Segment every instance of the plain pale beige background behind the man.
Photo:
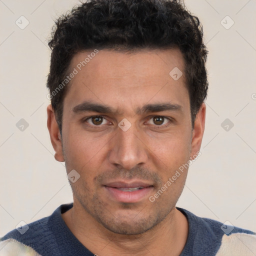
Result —
MULTIPOLYGON (((53 20, 75 3, 0 0, 0 236, 21 220, 29 223, 72 201, 46 128, 45 83, 46 38, 53 20), (15 24, 21 15, 29 21, 24 29, 15 24), (29 124, 23 131, 16 127, 21 118, 29 124)), ((209 92, 201 156, 189 169, 177 206, 256 230, 256 0, 185 4, 203 24, 209 92), (234 21, 229 29, 227 15, 234 21), (221 127, 226 118, 234 124, 228 131, 221 127)))

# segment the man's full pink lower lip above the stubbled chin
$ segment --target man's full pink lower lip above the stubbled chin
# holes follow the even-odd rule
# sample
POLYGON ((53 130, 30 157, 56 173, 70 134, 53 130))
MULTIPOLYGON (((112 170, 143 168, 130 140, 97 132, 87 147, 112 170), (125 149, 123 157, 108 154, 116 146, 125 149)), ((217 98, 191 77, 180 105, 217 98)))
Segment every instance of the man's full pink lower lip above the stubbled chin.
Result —
POLYGON ((141 189, 134 191, 122 191, 115 187, 105 186, 106 190, 112 198, 120 202, 138 202, 141 201, 146 196, 149 196, 149 193, 152 191, 152 186, 147 186, 141 189))

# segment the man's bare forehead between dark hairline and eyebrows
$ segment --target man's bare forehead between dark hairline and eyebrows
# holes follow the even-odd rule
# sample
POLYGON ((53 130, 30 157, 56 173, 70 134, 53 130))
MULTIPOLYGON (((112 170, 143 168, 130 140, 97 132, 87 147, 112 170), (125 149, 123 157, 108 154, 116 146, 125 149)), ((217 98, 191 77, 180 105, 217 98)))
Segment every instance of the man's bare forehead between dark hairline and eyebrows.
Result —
POLYGON ((149 101, 162 99, 180 104, 182 98, 189 98, 183 75, 184 60, 178 49, 136 52, 92 49, 74 55, 69 71, 74 70, 76 74, 64 99, 64 106, 67 103, 70 108, 92 100, 137 111, 149 101), (174 79, 177 76, 180 77, 174 79))

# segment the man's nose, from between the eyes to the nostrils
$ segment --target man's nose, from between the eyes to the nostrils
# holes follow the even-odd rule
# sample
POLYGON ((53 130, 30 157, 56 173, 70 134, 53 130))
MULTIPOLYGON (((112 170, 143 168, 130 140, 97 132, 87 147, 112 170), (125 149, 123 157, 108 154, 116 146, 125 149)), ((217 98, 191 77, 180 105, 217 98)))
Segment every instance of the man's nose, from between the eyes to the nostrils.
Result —
POLYGON ((148 159, 146 141, 143 141, 135 125, 131 125, 126 131, 118 127, 117 134, 111 142, 112 146, 108 153, 111 164, 130 170, 135 165, 146 163, 148 159))

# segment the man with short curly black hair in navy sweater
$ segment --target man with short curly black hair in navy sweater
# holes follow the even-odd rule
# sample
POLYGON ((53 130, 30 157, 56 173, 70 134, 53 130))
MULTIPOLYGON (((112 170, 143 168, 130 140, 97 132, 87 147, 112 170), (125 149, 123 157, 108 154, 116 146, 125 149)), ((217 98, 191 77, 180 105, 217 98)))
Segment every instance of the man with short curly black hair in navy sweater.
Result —
POLYGON ((49 46, 47 126, 73 203, 6 234, 0 255, 255 255, 252 231, 175 207, 204 131, 197 17, 176 1, 91 0, 49 46))

